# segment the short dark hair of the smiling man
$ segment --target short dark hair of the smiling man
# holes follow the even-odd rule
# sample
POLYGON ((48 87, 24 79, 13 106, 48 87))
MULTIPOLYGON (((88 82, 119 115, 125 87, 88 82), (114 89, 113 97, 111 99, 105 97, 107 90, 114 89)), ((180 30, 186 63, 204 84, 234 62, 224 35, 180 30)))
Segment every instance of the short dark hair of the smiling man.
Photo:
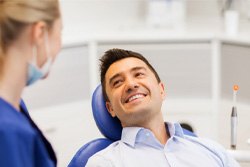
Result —
POLYGON ((142 60, 149 69, 154 73, 157 81, 160 83, 161 79, 155 69, 152 67, 152 65, 148 62, 148 60, 143 57, 140 53, 129 51, 129 50, 123 50, 123 49, 110 49, 104 53, 104 55, 99 59, 100 60, 100 77, 101 77, 101 84, 102 84, 102 92, 105 101, 109 101, 107 93, 106 93, 106 87, 105 87, 105 75, 109 67, 115 63, 116 61, 119 61, 121 59, 125 59, 128 57, 134 57, 137 59, 142 60))

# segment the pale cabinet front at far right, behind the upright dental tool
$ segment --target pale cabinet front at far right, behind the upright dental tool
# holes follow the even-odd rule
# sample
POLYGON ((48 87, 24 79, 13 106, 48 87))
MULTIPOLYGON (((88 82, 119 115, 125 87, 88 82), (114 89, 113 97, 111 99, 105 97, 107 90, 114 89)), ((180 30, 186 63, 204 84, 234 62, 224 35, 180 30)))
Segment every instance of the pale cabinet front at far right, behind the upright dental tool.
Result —
POLYGON ((230 118, 233 106, 233 85, 237 92, 238 138, 237 149, 250 149, 250 46, 224 43, 221 55, 221 95, 219 112, 219 140, 230 147, 230 118))

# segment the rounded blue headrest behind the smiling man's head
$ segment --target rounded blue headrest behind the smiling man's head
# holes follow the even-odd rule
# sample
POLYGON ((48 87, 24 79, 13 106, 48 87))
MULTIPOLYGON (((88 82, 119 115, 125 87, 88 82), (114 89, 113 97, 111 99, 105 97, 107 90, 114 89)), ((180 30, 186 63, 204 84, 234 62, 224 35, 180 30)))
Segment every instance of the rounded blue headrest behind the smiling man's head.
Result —
POLYGON ((102 86, 99 85, 92 95, 92 111, 97 127, 100 132, 108 139, 120 140, 122 126, 117 117, 113 118, 105 104, 102 94, 102 86))

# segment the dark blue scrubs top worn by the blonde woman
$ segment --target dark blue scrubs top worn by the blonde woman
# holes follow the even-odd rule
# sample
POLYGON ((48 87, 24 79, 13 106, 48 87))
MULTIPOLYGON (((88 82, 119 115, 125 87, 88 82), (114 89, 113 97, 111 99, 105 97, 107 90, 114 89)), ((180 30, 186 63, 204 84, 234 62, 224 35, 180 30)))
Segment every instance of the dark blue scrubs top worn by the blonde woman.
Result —
POLYGON ((56 156, 30 118, 25 104, 21 112, 0 98, 0 166, 55 167, 56 156))

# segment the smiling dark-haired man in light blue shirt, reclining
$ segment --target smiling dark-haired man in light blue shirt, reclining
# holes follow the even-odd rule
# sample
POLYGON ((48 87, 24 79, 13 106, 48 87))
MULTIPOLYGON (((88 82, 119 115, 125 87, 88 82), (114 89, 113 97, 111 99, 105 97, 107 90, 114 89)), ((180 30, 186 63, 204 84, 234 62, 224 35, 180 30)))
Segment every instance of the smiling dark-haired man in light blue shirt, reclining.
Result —
POLYGON ((100 60, 106 106, 123 130, 121 140, 93 155, 87 167, 239 166, 219 144, 164 122, 164 84, 141 54, 111 49, 100 60))

